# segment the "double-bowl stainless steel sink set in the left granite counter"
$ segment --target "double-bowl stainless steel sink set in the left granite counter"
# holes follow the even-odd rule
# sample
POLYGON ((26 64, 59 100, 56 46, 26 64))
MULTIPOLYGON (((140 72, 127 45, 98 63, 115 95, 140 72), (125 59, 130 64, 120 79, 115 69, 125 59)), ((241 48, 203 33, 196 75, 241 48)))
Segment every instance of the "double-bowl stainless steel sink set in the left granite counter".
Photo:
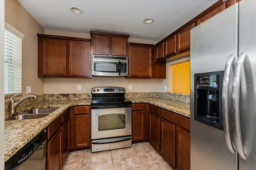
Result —
POLYGON ((37 108, 37 109, 31 109, 28 111, 25 111, 24 113, 20 115, 16 115, 13 117, 10 117, 8 120, 24 120, 24 119, 37 119, 41 117, 46 117, 53 111, 57 110, 59 107, 51 107, 51 108, 37 108))

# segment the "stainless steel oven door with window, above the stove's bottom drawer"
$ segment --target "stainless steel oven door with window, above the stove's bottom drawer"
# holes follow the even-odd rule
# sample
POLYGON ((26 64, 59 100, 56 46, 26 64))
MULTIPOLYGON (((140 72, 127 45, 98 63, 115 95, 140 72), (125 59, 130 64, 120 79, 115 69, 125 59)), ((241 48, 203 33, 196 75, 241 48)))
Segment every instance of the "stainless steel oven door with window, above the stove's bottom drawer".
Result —
POLYGON ((92 140, 132 135, 132 107, 92 109, 92 140))

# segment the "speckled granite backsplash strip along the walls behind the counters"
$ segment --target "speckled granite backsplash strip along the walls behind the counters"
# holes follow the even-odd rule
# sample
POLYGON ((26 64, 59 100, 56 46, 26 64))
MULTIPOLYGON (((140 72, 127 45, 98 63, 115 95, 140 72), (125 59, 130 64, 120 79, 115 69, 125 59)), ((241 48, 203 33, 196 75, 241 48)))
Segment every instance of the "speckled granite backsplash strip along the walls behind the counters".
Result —
MULTIPOLYGON (((44 100, 75 100, 75 99, 90 99, 92 98, 92 94, 84 93, 84 94, 42 94, 39 95, 38 98, 32 99, 29 98, 22 102, 18 107, 26 107, 28 105, 32 105, 32 103, 37 103, 44 100)), ((180 94, 180 93, 171 93, 171 92, 133 92, 126 93, 125 98, 163 98, 167 100, 175 100, 178 102, 190 102, 189 94, 180 94)), ((9 114, 9 102, 5 102, 5 114, 9 114)))

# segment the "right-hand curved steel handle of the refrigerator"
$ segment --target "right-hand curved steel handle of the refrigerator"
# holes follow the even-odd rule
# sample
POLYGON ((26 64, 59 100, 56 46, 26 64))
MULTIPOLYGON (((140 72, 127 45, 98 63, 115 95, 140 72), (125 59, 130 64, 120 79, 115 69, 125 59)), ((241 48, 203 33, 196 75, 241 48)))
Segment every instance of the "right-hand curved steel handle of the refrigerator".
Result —
POLYGON ((247 53, 242 52, 238 56, 236 62, 236 68, 234 72, 233 84, 232 84, 232 109, 234 114, 234 138, 236 143, 237 152, 240 157, 244 160, 247 160, 246 153, 244 152, 242 135, 240 129, 240 113, 239 113, 239 99, 240 99, 240 82, 241 82, 241 70, 242 65, 244 64, 244 59, 246 58, 247 53))

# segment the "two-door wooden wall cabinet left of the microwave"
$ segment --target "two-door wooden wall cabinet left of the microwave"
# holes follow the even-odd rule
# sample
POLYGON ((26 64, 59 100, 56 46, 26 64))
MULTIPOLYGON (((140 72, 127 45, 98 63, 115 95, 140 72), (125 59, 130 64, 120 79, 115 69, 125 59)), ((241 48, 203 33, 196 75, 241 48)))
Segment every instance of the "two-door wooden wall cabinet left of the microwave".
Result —
POLYGON ((38 77, 91 77, 90 39, 38 35, 38 77))

